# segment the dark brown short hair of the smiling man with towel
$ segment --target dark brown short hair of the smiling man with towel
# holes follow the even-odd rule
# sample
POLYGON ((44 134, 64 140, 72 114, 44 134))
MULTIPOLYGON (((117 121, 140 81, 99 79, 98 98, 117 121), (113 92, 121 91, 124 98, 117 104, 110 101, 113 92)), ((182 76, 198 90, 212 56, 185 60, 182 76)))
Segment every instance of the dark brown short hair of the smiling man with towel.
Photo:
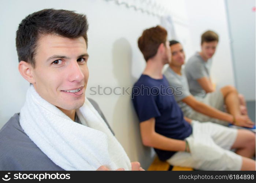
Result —
POLYGON ((37 41, 42 35, 57 34, 67 38, 84 37, 88 46, 88 22, 86 15, 74 11, 44 9, 26 16, 16 31, 16 49, 19 62, 21 60, 31 64, 36 62, 37 41))

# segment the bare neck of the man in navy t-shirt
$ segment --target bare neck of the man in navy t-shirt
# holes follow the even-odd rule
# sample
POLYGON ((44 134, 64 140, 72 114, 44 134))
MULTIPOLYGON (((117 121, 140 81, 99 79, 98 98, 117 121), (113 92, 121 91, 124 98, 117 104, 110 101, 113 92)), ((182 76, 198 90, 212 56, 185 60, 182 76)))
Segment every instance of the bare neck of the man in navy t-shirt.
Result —
POLYGON ((149 59, 146 63, 146 68, 143 71, 143 74, 150 76, 153 79, 162 79, 164 64, 157 58, 149 59))

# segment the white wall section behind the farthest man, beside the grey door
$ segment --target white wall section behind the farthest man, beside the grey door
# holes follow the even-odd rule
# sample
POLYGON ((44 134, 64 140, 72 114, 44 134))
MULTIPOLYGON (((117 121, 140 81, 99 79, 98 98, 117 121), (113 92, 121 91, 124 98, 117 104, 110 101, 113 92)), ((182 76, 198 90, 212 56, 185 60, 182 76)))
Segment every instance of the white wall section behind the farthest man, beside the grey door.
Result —
MULTIPOLYGON (((224 0, 185 0, 189 18, 192 54, 200 51, 201 34, 213 30, 219 34, 219 44, 213 56, 211 77, 217 88, 225 85, 234 86, 233 64, 229 30, 224 0)), ((187 58, 191 55, 187 54, 187 58)))

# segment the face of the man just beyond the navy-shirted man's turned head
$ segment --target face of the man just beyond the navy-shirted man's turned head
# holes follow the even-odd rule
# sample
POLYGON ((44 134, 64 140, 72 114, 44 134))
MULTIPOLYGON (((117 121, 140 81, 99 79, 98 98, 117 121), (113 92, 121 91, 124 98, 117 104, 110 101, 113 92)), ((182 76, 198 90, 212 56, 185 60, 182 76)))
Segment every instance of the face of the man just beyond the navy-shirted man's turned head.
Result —
POLYGON ((185 63, 185 53, 183 51, 182 45, 177 43, 171 45, 171 65, 172 66, 182 66, 185 63))

